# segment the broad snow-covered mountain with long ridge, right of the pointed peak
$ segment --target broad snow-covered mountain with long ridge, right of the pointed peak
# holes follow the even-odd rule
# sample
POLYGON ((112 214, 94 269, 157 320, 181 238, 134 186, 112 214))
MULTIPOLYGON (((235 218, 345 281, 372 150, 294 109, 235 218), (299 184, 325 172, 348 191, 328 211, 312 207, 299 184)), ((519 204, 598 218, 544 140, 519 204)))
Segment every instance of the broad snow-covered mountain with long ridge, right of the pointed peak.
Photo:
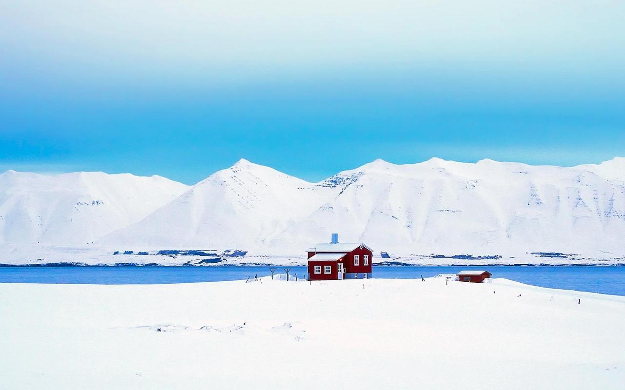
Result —
POLYGON ((341 175, 357 180, 268 246, 325 225, 401 254, 625 253, 625 187, 587 167, 432 159, 374 162, 341 175))

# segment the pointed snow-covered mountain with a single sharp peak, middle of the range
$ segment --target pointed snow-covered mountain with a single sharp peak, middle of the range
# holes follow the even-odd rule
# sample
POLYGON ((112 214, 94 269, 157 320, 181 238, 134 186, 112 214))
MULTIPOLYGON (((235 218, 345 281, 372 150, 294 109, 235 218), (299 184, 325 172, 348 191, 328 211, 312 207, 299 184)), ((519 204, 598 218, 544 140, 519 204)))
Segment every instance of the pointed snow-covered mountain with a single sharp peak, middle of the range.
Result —
POLYGON ((314 212, 331 193, 332 188, 317 187, 240 160, 99 243, 148 248, 261 248, 289 224, 314 212))

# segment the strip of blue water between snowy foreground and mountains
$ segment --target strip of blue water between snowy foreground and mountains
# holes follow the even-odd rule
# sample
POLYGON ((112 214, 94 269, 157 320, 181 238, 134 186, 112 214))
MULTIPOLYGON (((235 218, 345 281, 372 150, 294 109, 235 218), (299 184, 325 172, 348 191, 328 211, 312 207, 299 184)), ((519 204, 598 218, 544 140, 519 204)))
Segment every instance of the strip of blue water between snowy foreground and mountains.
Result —
MULTIPOLYGON (((284 267, 277 273, 284 273, 284 267)), ((507 278, 528 285, 590 291, 625 296, 625 266, 374 266, 374 278, 412 279, 456 273, 466 269, 488 270, 493 278, 507 278)), ((306 267, 291 267, 291 275, 306 275, 306 267)), ((97 285, 145 285, 198 281, 241 280, 271 275, 268 266, 207 267, 0 267, 0 283, 83 283, 97 285)))

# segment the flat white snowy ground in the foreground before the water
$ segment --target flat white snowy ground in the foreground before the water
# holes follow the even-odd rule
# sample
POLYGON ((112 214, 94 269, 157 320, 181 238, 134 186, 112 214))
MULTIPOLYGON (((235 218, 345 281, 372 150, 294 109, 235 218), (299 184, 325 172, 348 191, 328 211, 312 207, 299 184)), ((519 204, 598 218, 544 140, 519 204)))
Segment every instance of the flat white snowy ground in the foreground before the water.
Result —
POLYGON ((0 284, 0 388, 622 389, 622 329, 504 279, 0 284))

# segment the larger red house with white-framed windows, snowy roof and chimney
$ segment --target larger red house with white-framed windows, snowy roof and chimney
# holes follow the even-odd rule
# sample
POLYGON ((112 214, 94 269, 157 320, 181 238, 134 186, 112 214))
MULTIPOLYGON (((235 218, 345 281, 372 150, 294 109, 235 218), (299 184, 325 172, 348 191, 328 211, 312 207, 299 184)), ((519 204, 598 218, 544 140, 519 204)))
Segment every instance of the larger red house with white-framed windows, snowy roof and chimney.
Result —
POLYGON ((373 251, 364 243, 339 243, 332 233, 330 243, 308 248, 309 280, 341 280, 371 278, 373 251))

